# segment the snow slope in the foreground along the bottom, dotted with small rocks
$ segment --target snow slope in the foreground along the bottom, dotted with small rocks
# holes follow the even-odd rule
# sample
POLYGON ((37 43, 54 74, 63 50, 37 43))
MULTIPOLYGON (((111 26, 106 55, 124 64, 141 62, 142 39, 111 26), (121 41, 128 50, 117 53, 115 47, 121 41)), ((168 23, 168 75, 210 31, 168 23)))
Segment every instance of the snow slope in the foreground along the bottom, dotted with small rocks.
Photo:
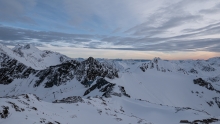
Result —
POLYGON ((177 124, 182 119, 193 121, 213 118, 196 110, 160 106, 119 97, 78 98, 71 103, 49 103, 37 99, 35 95, 26 94, 1 98, 0 105, 3 108, 8 107, 7 117, 0 119, 0 123, 4 124, 177 124))

